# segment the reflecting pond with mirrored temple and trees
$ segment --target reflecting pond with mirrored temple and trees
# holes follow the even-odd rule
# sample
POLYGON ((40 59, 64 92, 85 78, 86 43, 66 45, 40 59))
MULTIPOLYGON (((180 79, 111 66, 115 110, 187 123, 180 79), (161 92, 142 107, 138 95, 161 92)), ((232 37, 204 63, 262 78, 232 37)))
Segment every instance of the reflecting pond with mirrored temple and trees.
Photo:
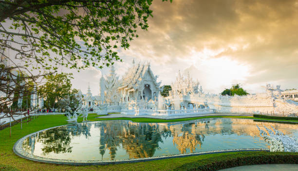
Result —
POLYGON ((268 148, 258 125, 298 137, 298 125, 217 118, 168 123, 129 120, 85 122, 27 137, 22 148, 36 156, 67 160, 119 160, 194 152, 268 148))

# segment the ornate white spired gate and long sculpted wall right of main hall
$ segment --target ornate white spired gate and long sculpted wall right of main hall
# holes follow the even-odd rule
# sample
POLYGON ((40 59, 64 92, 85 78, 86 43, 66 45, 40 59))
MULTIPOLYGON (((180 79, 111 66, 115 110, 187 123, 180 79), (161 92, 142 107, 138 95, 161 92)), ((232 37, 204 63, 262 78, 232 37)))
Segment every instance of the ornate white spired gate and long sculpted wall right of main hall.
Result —
POLYGON ((166 98, 171 109, 210 108, 218 113, 246 113, 279 116, 294 116, 298 114, 298 103, 284 98, 280 86, 274 88, 266 85, 265 93, 246 96, 222 96, 205 94, 198 82, 189 77, 184 78, 179 73, 176 82, 172 84, 169 97, 166 98))

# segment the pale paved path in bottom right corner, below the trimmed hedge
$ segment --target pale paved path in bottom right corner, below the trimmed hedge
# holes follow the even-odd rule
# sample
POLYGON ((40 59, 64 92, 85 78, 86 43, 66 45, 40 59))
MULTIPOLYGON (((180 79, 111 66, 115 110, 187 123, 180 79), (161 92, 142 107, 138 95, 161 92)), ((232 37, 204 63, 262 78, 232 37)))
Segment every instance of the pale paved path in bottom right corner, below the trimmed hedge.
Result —
POLYGON ((295 164, 267 164, 267 165, 249 165, 235 168, 223 169, 220 171, 298 171, 298 165, 295 164))

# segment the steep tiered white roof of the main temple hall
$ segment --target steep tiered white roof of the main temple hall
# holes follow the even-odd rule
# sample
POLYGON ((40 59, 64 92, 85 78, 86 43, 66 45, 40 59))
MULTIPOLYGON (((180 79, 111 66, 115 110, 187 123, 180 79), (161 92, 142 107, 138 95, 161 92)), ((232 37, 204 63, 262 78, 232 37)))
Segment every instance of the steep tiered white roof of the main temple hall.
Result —
POLYGON ((139 86, 141 85, 142 80, 144 79, 144 76, 146 73, 149 73, 149 75, 152 78, 152 81, 154 82, 155 86, 159 87, 161 82, 157 83, 156 80, 158 76, 154 76, 151 68, 150 63, 141 65, 140 63, 137 65, 134 65, 132 68, 129 68, 128 71, 123 76, 119 88, 128 88, 128 89, 139 89, 139 86))

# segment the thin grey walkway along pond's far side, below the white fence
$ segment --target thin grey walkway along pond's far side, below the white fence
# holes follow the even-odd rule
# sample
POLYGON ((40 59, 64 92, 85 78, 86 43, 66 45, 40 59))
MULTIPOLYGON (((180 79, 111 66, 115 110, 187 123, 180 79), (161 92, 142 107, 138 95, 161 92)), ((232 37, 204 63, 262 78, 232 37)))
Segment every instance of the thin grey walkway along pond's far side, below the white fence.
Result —
POLYGON ((182 116, 152 116, 152 115, 125 115, 125 114, 109 114, 107 116, 97 118, 152 118, 152 119, 181 119, 181 118, 194 118, 205 116, 252 116, 252 114, 239 114, 239 113, 209 113, 209 114, 195 114, 195 115, 182 115, 182 116))

